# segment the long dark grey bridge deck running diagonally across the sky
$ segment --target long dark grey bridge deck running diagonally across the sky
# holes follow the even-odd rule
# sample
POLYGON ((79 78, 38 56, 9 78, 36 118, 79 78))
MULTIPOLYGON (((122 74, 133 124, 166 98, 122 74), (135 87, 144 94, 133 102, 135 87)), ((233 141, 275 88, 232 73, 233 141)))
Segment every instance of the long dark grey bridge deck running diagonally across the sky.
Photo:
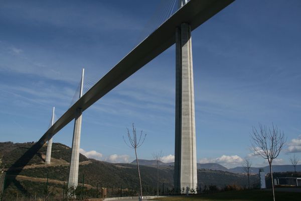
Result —
POLYGON ((191 25, 191 30, 206 22, 234 0, 191 0, 150 34, 107 74, 90 88, 66 113, 41 137, 38 144, 44 144, 53 135, 75 118, 77 108, 86 110, 111 89, 153 60, 175 43, 176 27, 182 23, 191 25))

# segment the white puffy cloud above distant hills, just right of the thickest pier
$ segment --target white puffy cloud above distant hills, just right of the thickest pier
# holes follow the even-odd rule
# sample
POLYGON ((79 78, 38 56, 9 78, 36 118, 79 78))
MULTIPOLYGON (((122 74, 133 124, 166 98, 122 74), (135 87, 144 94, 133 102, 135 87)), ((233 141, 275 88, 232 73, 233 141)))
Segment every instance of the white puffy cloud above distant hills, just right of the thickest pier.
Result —
POLYGON ((238 155, 226 156, 222 155, 218 158, 202 158, 199 160, 199 163, 218 163, 227 168, 235 167, 243 163, 243 159, 238 155))

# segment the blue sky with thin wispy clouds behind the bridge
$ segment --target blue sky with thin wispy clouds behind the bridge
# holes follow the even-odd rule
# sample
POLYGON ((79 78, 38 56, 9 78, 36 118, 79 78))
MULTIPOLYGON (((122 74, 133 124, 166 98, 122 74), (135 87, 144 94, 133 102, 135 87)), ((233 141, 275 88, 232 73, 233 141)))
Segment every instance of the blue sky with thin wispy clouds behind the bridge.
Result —
MULTIPOLYGON (((169 3, 2 1, 0 141, 37 141, 48 129, 52 107, 57 117, 70 107, 81 69, 87 80, 100 79, 152 31, 149 21, 169 3)), ((193 31, 199 162, 241 165, 251 154, 249 135, 258 122, 277 125, 287 137, 275 164, 289 164, 292 152, 301 158, 300 9, 300 1, 237 0, 193 31)), ((164 161, 172 161, 174 108, 172 46, 84 112, 82 153, 133 160, 122 136, 135 123, 147 134, 139 157, 152 159, 162 149, 164 161)), ((54 142, 71 146, 73 124, 54 142)))

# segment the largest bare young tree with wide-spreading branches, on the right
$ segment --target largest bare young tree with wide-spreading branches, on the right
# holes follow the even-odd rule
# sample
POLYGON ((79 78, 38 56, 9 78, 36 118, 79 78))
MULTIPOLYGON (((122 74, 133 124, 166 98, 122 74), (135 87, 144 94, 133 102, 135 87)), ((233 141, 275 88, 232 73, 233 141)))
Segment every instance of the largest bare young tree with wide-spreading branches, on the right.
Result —
POLYGON ((252 128, 251 133, 252 138, 252 148, 256 155, 261 156, 264 159, 267 159, 270 168, 271 181, 272 181, 272 190, 273 190, 273 199, 275 201, 274 193, 274 181, 272 173, 272 162, 273 159, 277 158, 280 151, 282 150, 286 138, 284 133, 277 128, 277 126, 272 125, 272 128, 267 128, 262 126, 259 123, 259 130, 255 127, 252 128))

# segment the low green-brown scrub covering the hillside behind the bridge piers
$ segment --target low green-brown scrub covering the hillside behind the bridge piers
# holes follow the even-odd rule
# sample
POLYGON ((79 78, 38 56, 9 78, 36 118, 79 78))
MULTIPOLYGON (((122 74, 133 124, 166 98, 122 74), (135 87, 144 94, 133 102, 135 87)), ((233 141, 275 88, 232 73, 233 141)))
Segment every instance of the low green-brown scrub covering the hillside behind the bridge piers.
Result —
MULTIPOLYGON (((0 143, 0 153, 4 163, 14 164, 33 143, 0 143)), ((46 146, 19 173, 14 176, 14 169, 8 174, 5 196, 16 199, 18 197, 43 197, 49 200, 60 200, 67 191, 69 175, 69 161, 71 149, 60 143, 53 143, 52 164, 45 165, 46 146), (47 184, 48 177, 48 184, 47 184), (65 184, 64 184, 65 182, 65 184), (65 187, 64 187, 65 186, 65 187)), ((80 155, 79 187, 77 193, 85 198, 101 197, 101 188, 107 188, 107 196, 134 196, 139 192, 137 169, 134 164, 112 164, 108 162, 88 159, 80 155), (84 187, 82 187, 84 182, 84 187)), ((157 194, 157 167, 140 166, 143 195, 157 194)), ((159 166, 159 195, 174 194, 173 166, 159 166)), ((198 170, 199 189, 201 193, 213 193, 220 190, 246 189, 247 176, 221 170, 198 170)), ((250 175, 251 188, 258 187, 258 176, 250 175)), ((195 190, 195 189, 194 189, 195 190)), ((21 199, 19 199, 21 200, 21 199)))

